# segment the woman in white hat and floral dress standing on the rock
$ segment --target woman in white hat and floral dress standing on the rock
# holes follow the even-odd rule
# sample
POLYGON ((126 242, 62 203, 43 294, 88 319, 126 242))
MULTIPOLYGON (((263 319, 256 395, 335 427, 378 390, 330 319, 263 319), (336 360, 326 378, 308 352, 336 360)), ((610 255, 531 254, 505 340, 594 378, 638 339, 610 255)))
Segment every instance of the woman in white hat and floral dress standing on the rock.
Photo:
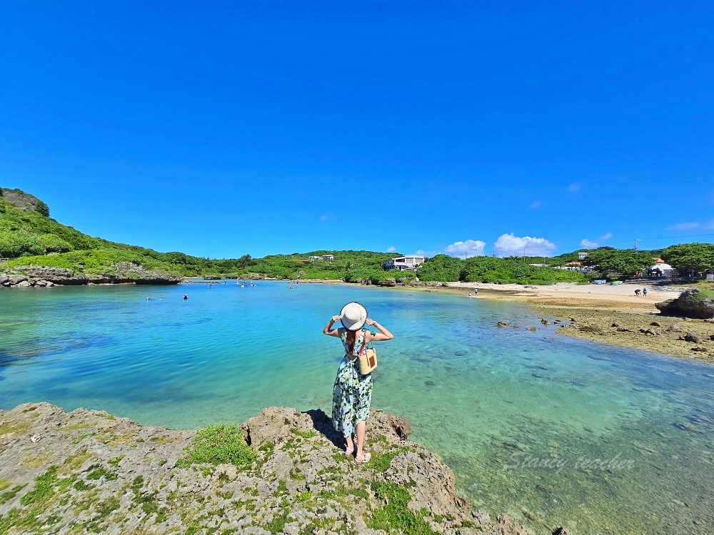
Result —
POLYGON ((358 302, 347 303, 340 315, 331 317, 323 334, 339 338, 345 349, 345 356, 337 370, 337 378, 332 396, 332 422, 335 429, 345 437, 345 455, 355 452, 352 436, 357 439, 355 461, 366 463, 371 454, 364 452, 364 437, 369 417, 369 404, 372 400, 372 374, 361 374, 358 355, 366 350, 369 342, 391 340, 393 335, 384 327, 367 317, 367 310, 358 302), (342 327, 332 326, 342 322, 342 327), (364 325, 376 327, 373 333, 364 329, 364 325))

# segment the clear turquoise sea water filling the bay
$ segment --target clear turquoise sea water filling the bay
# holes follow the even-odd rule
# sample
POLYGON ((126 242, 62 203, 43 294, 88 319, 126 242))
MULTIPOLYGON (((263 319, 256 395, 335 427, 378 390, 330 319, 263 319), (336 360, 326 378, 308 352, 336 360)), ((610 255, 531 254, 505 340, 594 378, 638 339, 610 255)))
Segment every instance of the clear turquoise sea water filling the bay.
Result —
POLYGON ((174 428, 329 414, 342 352, 321 330, 350 300, 395 335, 373 407, 408 417, 476 506, 538 534, 714 532, 714 366, 528 332, 537 315, 513 303, 283 282, 0 290, 0 408, 174 428))

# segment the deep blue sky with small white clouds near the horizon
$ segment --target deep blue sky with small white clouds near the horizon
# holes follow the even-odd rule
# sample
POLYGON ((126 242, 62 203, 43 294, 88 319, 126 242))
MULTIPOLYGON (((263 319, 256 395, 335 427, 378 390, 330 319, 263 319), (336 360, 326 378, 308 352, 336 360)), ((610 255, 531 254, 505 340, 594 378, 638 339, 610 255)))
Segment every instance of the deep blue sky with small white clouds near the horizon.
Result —
POLYGON ((91 235, 210 258, 714 239, 711 2, 1 7, 0 186, 91 235))

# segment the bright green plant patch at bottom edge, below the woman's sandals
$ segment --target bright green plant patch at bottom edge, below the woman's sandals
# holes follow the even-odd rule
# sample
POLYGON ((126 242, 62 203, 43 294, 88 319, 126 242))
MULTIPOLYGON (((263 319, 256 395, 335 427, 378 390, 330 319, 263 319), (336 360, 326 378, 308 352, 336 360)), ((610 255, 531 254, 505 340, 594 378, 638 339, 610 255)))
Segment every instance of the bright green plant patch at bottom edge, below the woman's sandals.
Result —
POLYGON ((386 500, 383 509, 373 511, 368 526, 372 529, 383 529, 387 533, 396 531, 406 535, 432 535, 431 526, 424 516, 428 511, 419 511, 414 514, 407 508, 411 500, 406 486, 388 481, 372 481, 372 490, 378 499, 386 500))

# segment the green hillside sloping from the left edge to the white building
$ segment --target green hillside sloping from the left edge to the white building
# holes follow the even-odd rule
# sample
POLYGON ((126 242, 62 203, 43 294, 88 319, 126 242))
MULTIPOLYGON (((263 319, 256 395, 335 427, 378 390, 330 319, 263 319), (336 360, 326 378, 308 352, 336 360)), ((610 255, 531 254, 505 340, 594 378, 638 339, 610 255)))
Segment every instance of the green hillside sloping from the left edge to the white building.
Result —
POLYGON ((0 258, 9 258, 8 267, 41 265, 65 267, 76 272, 97 274, 117 262, 134 261, 146 270, 181 275, 232 275, 277 278, 342 279, 356 271, 363 279, 379 280, 381 265, 390 253, 371 251, 327 251, 291 255, 271 255, 253 259, 250 255, 226 260, 209 260, 184 253, 159 253, 136 245, 116 243, 81 233, 49 217, 49 208, 34 195, 0 188, 0 258), (311 256, 333 255, 334 260, 308 260, 311 256))

